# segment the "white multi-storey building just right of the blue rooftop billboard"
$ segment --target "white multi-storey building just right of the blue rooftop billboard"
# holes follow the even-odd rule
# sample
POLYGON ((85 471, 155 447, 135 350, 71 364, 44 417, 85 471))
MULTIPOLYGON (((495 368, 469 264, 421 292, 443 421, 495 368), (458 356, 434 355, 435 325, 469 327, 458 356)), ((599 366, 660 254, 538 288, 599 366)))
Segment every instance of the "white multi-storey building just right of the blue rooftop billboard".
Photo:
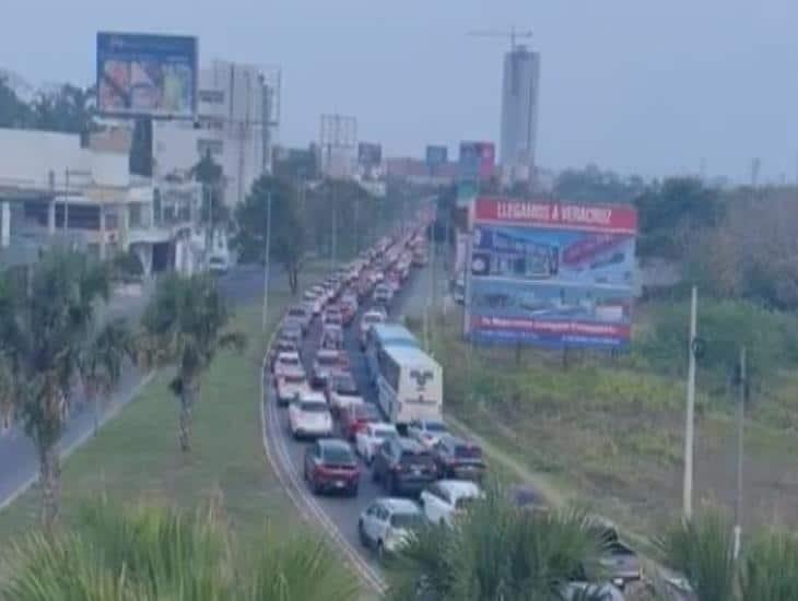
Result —
POLYGON ((222 60, 200 70, 196 123, 153 123, 155 174, 187 173, 210 151, 222 166, 225 203, 242 202, 271 168, 279 79, 257 67, 222 60))

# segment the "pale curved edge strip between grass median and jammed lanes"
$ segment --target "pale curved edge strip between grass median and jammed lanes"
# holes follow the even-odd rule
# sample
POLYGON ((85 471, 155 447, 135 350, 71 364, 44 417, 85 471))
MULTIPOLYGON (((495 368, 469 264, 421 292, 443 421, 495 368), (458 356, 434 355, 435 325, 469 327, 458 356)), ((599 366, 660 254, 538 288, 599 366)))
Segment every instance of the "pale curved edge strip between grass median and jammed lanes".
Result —
MULTIPOLYGON (((266 451, 267 459, 278 476, 280 484, 287 494, 289 498, 300 510, 301 516, 306 520, 315 519, 316 522, 321 526, 325 532, 332 539, 332 541, 343 551, 344 555, 349 559, 350 565, 361 579, 372 589, 376 590, 380 594, 385 594, 388 590, 388 585, 379 573, 373 568, 368 563, 357 553, 357 551, 350 544, 350 542, 343 537, 340 529, 335 522, 327 516, 326 511, 316 502, 316 499, 309 494, 307 487, 304 485, 294 469, 294 462, 285 444, 284 433, 281 432, 280 427, 280 415, 277 409, 274 399, 271 398, 269 392, 271 386, 267 385, 266 375, 269 374, 268 356, 269 350, 274 342, 277 330, 272 332, 269 344, 267 345, 267 352, 263 355, 261 363, 260 378, 260 432, 263 443, 263 449, 266 451), (265 405, 268 403, 268 408, 265 405), (269 436, 267 436, 267 433, 269 436), (273 441, 275 448, 271 448, 270 440, 273 441), (277 458, 275 458, 277 455, 277 458)), ((270 378, 269 378, 270 380, 270 378)), ((304 480, 304 479, 303 479, 304 480)))

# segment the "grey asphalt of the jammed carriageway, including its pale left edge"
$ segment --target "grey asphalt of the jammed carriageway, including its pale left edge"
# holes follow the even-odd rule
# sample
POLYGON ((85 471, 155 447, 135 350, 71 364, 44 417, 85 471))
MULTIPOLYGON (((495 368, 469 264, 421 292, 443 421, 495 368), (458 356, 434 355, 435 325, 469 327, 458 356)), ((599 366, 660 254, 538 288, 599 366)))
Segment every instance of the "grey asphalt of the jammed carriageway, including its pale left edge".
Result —
MULTIPOLYGON (((419 298, 424 298, 424 294, 419 288, 426 290, 424 286, 429 285, 429 280, 424 275, 427 272, 427 269, 420 272, 418 268, 413 268, 410 278, 391 304, 389 311, 391 320, 399 318, 408 303, 416 305, 419 298)), ((352 326, 344 330, 344 350, 349 354, 350 368, 357 381, 361 394, 366 402, 376 403, 376 390, 368 381, 365 356, 361 352, 357 342, 360 316, 369 306, 369 302, 361 305, 352 326)), ((303 343, 303 362, 308 374, 318 349, 320 330, 319 319, 315 319, 303 343)), ((267 391, 263 412, 267 417, 265 424, 266 440, 271 447, 272 455, 286 472, 284 478, 287 482, 284 485, 290 488, 290 495, 297 497, 294 498, 294 503, 298 505, 301 511, 306 515, 310 514, 309 517, 321 522, 328 533, 344 550, 344 553, 350 556, 351 563, 355 564, 355 568, 364 576, 367 584, 380 590, 384 582, 379 575, 378 562, 372 552, 360 545, 357 538, 357 517, 360 512, 375 498, 387 496, 379 485, 372 482, 371 469, 361 461, 360 491, 356 498, 342 495, 313 495, 302 476, 304 452, 308 443, 296 441, 291 436, 287 410, 278 408, 273 388, 269 388, 267 391), (356 556, 353 557, 353 554, 356 556)))

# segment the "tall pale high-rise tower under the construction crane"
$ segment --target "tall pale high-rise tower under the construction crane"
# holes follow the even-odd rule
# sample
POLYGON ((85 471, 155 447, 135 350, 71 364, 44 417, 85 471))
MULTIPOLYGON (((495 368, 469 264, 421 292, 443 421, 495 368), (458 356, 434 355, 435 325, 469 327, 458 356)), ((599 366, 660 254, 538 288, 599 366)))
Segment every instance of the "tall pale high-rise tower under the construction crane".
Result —
POLYGON ((505 181, 535 173, 538 137, 540 55, 516 46, 504 57, 500 164, 505 181))

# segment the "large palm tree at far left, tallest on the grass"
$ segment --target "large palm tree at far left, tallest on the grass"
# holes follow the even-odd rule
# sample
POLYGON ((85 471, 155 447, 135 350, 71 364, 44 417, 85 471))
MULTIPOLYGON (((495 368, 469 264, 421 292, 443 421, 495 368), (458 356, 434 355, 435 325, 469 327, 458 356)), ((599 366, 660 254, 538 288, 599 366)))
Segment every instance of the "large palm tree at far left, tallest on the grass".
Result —
POLYGON ((25 278, 7 278, 0 288, 0 353, 7 357, 14 414, 38 453, 42 517, 48 528, 58 518, 57 445, 74 385, 102 380, 108 390, 131 354, 129 345, 114 343, 124 322, 96 331, 97 300, 108 294, 107 264, 60 248, 45 252, 25 278), (115 332, 113 339, 108 330, 115 332))

